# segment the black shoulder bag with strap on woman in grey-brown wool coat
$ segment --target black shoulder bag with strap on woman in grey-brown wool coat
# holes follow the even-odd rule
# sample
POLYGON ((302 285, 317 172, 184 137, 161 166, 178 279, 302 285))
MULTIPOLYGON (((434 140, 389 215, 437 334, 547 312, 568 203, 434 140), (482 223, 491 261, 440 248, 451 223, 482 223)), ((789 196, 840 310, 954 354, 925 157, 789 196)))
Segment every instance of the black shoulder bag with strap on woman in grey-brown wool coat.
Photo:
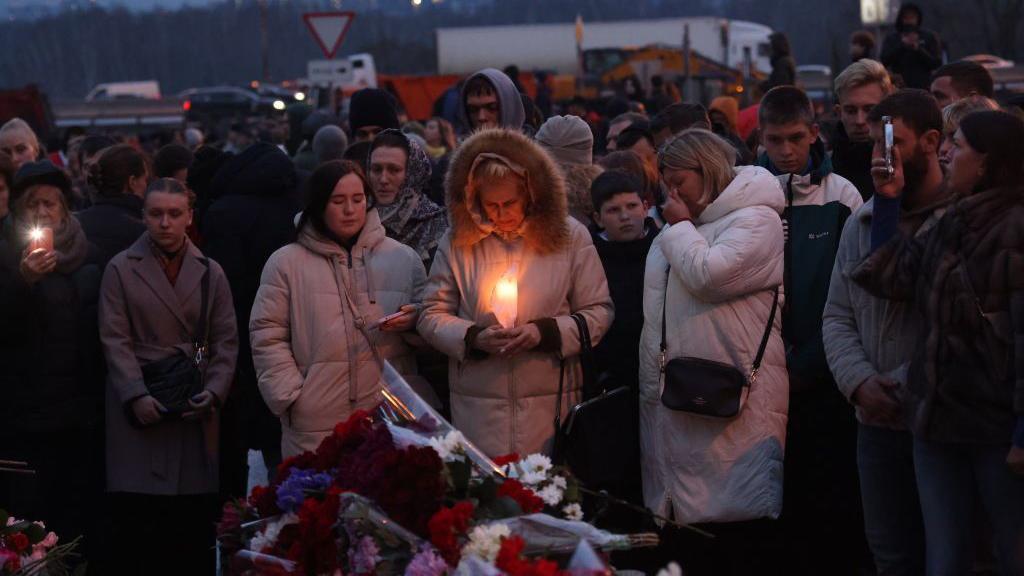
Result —
MULTIPOLYGON (((193 337, 191 356, 178 352, 156 362, 141 366, 142 381, 146 392, 157 400, 167 412, 164 419, 180 418, 181 414, 191 410, 188 399, 203 392, 204 361, 208 349, 207 314, 210 299, 210 269, 203 273, 202 306, 199 324, 193 337)), ((127 408, 127 407, 126 407, 127 408)), ((134 412, 127 408, 130 419, 137 425, 134 412)))

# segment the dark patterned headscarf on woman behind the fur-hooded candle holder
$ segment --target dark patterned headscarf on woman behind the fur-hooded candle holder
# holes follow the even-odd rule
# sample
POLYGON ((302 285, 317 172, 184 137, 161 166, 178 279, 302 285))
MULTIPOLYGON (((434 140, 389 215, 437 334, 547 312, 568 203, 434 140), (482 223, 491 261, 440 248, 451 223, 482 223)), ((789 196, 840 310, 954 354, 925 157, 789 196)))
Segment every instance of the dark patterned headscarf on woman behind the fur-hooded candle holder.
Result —
MULTIPOLYGON (((378 204, 377 213, 390 238, 416 250, 424 261, 433 257, 437 243, 447 231, 447 213, 434 204, 424 191, 430 181, 430 159, 416 141, 398 130, 385 130, 400 134, 409 143, 406 161, 406 181, 401 183, 394 202, 388 206, 378 204)), ((383 132, 382 132, 383 133, 383 132)), ((368 160, 369 163, 369 160, 368 160)))

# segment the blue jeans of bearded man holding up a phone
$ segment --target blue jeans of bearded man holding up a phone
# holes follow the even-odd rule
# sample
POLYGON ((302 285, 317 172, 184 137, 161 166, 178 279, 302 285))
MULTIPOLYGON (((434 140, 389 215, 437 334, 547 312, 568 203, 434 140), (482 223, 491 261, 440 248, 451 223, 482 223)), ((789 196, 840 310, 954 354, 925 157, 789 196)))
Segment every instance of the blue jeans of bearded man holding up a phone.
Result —
POLYGON ((860 423, 857 468, 864 534, 879 576, 925 573, 925 529, 913 469, 913 437, 860 423))

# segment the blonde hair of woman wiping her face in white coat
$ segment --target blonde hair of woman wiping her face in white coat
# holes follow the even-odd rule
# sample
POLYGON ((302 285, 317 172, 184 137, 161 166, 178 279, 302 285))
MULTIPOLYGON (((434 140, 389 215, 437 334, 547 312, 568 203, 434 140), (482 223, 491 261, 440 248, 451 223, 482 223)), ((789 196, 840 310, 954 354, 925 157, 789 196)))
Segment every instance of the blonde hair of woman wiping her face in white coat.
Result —
POLYGON ((657 153, 657 170, 693 170, 703 177, 699 203, 708 206, 736 177, 736 149, 721 136, 702 128, 676 134, 657 153))

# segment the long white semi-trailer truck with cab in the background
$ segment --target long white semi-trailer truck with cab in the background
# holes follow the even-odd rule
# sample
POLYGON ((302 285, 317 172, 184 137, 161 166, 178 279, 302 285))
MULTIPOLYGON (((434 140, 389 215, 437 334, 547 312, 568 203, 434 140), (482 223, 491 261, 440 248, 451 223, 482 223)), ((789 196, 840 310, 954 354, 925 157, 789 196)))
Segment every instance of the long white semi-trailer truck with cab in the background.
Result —
MULTIPOLYGON (((585 23, 582 48, 639 48, 651 44, 681 48, 688 27, 690 48, 734 69, 750 65, 771 70, 767 26, 713 16, 585 23)), ((482 68, 516 65, 520 70, 578 72, 574 23, 473 28, 438 28, 438 74, 465 75, 482 68)), ((596 59, 596 58, 594 58, 596 59)), ((597 64, 597 63, 594 63, 597 64)), ((587 69, 595 68, 588 63, 587 69)), ((598 72, 598 71, 594 71, 598 72)))

